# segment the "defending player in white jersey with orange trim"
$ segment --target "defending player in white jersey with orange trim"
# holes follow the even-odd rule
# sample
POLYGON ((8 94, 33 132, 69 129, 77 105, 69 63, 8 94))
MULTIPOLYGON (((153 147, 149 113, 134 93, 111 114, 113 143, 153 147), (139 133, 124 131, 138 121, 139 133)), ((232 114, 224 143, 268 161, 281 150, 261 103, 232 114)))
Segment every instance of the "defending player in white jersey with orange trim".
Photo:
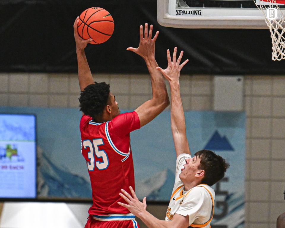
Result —
POLYGON ((165 220, 159 220, 148 213, 146 197, 140 202, 132 187, 130 187, 132 196, 123 189, 121 190, 123 194, 120 193, 128 204, 121 202, 118 204, 128 208, 149 228, 209 228, 214 214, 215 200, 215 192, 210 186, 224 177, 229 164, 221 156, 208 150, 198 151, 191 157, 179 88, 180 71, 188 60, 179 65, 183 51, 177 61, 176 52, 175 47, 171 61, 170 52, 167 50, 167 69, 156 68, 170 83, 171 130, 177 155, 175 184, 165 220))

